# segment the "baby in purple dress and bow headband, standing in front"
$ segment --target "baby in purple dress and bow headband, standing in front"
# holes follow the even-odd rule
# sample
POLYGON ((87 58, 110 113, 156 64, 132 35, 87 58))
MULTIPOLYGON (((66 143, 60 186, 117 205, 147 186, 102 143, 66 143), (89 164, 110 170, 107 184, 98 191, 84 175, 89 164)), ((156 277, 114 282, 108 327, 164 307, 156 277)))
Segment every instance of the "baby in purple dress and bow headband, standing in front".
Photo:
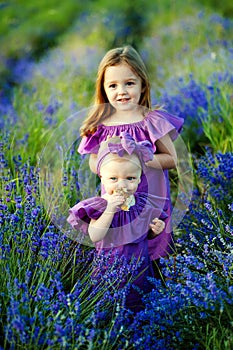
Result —
MULTIPOLYGON (((150 143, 136 143, 129 134, 103 142, 97 172, 105 194, 79 202, 68 217, 73 228, 90 236, 98 254, 110 254, 110 264, 116 256, 124 256, 128 262, 136 258, 140 265, 134 285, 143 291, 149 291, 147 277, 153 277, 148 238, 159 237, 165 223, 158 217, 166 217, 161 209, 163 198, 136 192, 144 163, 152 159, 150 143)), ((131 288, 126 305, 138 311, 139 304, 140 295, 131 288)))

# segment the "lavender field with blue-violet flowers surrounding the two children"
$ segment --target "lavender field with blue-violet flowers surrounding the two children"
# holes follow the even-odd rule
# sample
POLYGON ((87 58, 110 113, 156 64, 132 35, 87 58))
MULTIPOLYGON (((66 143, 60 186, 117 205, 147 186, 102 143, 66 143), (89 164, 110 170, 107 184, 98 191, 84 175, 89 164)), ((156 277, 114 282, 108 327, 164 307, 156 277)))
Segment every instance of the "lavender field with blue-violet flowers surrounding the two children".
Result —
POLYGON ((193 0, 119 4, 67 8, 40 54, 36 22, 2 37, 0 349, 233 349, 233 14, 193 0), (185 119, 170 174, 176 252, 136 315, 131 282, 117 287, 136 263, 104 270, 106 256, 65 224, 95 187, 76 149, 98 63, 126 42, 145 60, 153 104, 185 119))

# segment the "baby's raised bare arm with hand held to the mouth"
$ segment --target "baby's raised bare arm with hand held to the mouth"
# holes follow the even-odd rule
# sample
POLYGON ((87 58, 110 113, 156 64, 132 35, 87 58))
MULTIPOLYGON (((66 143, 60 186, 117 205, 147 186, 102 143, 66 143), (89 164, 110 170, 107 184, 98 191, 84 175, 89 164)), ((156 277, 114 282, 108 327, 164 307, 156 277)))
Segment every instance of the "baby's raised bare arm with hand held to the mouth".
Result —
POLYGON ((99 242, 106 236, 115 212, 125 201, 122 195, 115 193, 112 195, 106 194, 105 199, 107 200, 105 211, 97 220, 92 219, 89 224, 88 233, 92 242, 99 242))

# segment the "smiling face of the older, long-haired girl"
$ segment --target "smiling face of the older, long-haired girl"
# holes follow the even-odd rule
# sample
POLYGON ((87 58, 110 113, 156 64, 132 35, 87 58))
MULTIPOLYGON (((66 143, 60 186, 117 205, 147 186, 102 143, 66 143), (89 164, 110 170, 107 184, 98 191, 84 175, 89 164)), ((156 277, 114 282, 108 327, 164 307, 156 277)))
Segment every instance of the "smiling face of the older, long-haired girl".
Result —
POLYGON ((121 63, 106 68, 104 90, 109 103, 117 111, 128 111, 139 104, 142 82, 126 63, 121 63))

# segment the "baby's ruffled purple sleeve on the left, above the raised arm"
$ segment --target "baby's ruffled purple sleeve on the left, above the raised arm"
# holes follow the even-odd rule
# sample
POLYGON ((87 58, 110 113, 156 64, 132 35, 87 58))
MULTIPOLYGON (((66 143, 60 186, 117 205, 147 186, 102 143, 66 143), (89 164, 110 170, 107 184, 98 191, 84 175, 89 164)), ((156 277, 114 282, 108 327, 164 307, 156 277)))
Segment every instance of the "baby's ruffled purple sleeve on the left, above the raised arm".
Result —
POLYGON ((68 223, 85 235, 88 234, 88 226, 91 219, 97 220, 106 209, 107 201, 101 197, 85 199, 69 210, 68 223))

